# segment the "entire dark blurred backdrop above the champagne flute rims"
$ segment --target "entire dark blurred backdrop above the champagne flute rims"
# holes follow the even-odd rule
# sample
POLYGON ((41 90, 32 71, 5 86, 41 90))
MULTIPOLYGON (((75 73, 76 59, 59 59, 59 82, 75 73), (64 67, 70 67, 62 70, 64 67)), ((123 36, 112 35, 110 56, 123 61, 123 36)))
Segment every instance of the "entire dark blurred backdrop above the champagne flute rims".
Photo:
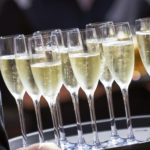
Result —
POLYGON ((84 28, 89 22, 129 21, 150 15, 150 0, 1 0, 0 34, 84 28))

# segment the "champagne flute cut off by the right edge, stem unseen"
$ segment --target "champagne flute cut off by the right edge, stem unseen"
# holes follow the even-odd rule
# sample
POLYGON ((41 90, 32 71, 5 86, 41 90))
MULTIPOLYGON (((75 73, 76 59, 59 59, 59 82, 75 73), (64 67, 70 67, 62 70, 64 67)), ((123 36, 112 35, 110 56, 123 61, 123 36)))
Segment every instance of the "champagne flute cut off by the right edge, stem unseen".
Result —
MULTIPOLYGON (((135 21, 136 38, 140 56, 147 73, 150 75, 150 18, 135 21)), ((150 137, 147 138, 150 141, 150 137)))

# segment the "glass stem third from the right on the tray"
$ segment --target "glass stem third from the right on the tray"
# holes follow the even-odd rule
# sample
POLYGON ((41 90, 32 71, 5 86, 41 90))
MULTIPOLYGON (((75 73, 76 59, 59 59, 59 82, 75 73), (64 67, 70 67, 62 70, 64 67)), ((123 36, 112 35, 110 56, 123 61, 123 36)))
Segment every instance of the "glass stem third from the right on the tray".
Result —
POLYGON ((92 126, 92 130, 93 130, 93 144, 100 145, 98 132, 97 132, 97 125, 96 125, 94 97, 92 94, 88 95, 88 103, 89 103, 90 116, 91 116, 91 126, 92 126))

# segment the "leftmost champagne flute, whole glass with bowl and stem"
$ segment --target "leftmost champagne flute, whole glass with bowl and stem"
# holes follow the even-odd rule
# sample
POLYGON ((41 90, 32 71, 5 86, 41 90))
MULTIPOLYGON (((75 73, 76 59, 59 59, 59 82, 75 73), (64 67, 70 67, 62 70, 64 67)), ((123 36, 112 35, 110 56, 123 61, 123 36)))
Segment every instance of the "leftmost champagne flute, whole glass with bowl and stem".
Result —
POLYGON ((28 145, 23 114, 23 96, 25 94, 25 90, 16 68, 13 40, 14 36, 0 38, 1 73, 9 92, 15 98, 17 103, 22 133, 22 142, 23 147, 25 147, 28 145))

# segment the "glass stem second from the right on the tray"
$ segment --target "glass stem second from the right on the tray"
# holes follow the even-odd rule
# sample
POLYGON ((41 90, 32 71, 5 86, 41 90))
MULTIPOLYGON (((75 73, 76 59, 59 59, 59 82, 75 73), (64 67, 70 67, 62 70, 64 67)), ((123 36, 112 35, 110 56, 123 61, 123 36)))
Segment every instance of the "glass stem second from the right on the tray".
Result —
POLYGON ((112 101, 112 89, 111 87, 105 87, 107 101, 108 101, 108 108, 109 108, 109 115, 110 115, 110 125, 111 125, 111 137, 118 136, 117 129, 116 129, 116 122, 114 116, 114 108, 113 108, 113 101, 112 101))

